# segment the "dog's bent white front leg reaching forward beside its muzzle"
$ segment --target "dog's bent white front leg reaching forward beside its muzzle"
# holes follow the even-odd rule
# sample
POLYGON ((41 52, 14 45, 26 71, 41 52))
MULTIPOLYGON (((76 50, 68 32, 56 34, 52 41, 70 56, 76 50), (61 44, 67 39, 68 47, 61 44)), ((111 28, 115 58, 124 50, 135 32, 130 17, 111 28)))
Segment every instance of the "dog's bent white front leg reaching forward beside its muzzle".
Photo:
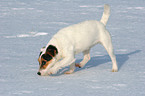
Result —
POLYGON ((56 74, 59 69, 71 65, 75 62, 74 56, 67 56, 63 58, 61 61, 57 62, 49 71, 48 74, 56 74))

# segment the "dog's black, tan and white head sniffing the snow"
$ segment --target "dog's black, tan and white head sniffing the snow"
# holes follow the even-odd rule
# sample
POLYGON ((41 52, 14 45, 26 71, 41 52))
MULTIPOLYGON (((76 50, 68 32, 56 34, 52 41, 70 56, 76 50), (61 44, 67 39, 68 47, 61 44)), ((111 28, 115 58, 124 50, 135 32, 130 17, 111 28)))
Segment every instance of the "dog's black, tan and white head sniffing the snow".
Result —
POLYGON ((58 50, 55 46, 49 45, 47 48, 41 48, 41 52, 39 54, 38 62, 39 62, 39 71, 38 75, 48 75, 48 70, 55 63, 56 55, 58 54, 58 50))

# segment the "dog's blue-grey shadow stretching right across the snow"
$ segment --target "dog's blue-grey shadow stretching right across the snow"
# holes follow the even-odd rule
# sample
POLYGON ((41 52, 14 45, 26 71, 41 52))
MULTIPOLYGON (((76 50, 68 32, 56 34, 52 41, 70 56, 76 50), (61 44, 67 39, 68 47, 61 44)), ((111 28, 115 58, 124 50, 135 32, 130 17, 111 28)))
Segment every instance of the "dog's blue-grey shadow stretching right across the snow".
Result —
MULTIPOLYGON (((119 70, 121 69, 123 64, 125 64, 125 62, 129 59, 129 56, 137 54, 139 52, 141 52, 141 50, 136 50, 136 51, 133 51, 133 52, 130 52, 130 53, 127 53, 127 54, 116 54, 118 69, 119 70)), ((82 59, 76 60, 76 62, 80 62, 81 60, 82 59)), ((104 64, 104 63, 107 63, 107 62, 112 63, 109 55, 91 57, 91 60, 83 68, 76 68, 75 71, 80 71, 80 70, 84 70, 86 68, 88 69, 88 68, 91 68, 91 67, 96 67, 98 65, 101 65, 101 64, 104 64)))

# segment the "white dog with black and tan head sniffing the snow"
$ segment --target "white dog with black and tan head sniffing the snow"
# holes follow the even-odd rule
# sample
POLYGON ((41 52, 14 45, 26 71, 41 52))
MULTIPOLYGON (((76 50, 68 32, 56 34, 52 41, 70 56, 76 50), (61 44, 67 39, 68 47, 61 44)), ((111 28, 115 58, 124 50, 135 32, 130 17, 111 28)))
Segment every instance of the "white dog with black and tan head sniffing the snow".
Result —
POLYGON ((59 30, 46 47, 41 49, 38 58, 40 68, 37 74, 41 76, 56 74, 59 69, 69 65, 70 69, 65 73, 73 73, 75 67, 82 68, 90 60, 90 49, 96 44, 105 47, 112 60, 112 72, 117 72, 111 36, 106 29, 109 16, 110 6, 105 4, 100 21, 88 20, 59 30), (75 54, 80 52, 84 54, 84 59, 80 63, 75 63, 75 54))

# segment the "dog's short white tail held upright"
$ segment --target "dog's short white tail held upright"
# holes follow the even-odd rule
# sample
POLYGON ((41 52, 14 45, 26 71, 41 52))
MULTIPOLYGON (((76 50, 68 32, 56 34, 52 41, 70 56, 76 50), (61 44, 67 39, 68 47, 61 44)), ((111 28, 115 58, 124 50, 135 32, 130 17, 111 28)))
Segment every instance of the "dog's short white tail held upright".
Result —
POLYGON ((104 5, 104 12, 103 12, 103 16, 101 18, 101 22, 106 26, 107 21, 109 19, 110 16, 110 6, 108 4, 104 5))

